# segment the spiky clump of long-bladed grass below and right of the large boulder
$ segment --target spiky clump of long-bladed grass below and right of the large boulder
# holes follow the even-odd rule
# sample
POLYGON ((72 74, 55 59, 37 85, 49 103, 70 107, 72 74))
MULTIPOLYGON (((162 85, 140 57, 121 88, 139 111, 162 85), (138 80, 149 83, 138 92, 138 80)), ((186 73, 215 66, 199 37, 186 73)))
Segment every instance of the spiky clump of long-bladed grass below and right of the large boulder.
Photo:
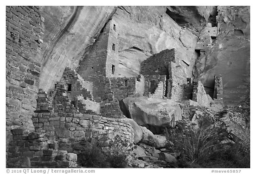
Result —
MULTIPOLYGON (((219 150, 218 144, 224 137, 220 129, 213 127, 212 120, 208 117, 199 121, 199 128, 196 130, 185 130, 180 126, 177 131, 166 131, 165 135, 173 143, 169 144, 169 148, 181 153, 179 161, 184 165, 187 162, 204 163, 219 150)), ((186 166, 188 165, 184 167, 186 166)))

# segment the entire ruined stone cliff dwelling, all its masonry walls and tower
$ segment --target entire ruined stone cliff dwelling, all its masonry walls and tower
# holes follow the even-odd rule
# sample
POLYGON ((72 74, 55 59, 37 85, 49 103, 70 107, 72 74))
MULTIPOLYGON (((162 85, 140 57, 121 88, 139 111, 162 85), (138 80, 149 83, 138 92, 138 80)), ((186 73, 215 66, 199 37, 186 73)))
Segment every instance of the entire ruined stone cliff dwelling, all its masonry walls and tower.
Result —
MULTIPOLYGON (((120 77, 119 34, 122 31, 115 19, 105 23, 77 68, 66 66, 53 89, 38 89, 44 19, 36 6, 6 9, 7 14, 12 14, 6 22, 10 28, 6 34, 6 54, 14 62, 19 62, 19 56, 22 56, 20 65, 10 67, 7 74, 15 72, 11 72, 12 68, 18 69, 13 76, 24 79, 22 83, 11 84, 7 88, 6 103, 9 109, 15 106, 7 114, 8 131, 11 132, 7 135, 10 139, 6 147, 9 168, 77 167, 77 155, 86 150, 83 141, 88 128, 92 128, 92 136, 108 131, 111 137, 120 135, 122 139, 138 143, 140 140, 135 137, 134 124, 128 121, 131 113, 123 102, 127 97, 176 104, 180 112, 175 118, 169 116, 173 123, 167 128, 175 127, 178 120, 190 121, 197 112, 211 112, 216 120, 230 115, 224 108, 221 74, 212 74, 212 86, 204 86, 200 80, 187 77, 184 66, 181 66, 183 58, 176 48, 169 47, 149 56, 140 63, 137 76, 120 77), (22 25, 20 29, 16 27, 20 25, 16 19, 22 25), (16 46, 26 43, 29 46, 16 46), (35 56, 34 59, 29 58, 31 56, 35 56), (22 103, 16 100, 20 93, 27 98, 22 103), (36 108, 33 112, 31 103, 36 108), (18 106, 28 109, 15 110, 18 106), (15 112, 19 116, 24 115, 23 127, 16 126, 21 125, 19 123, 12 124, 12 114, 15 112)), ((195 51, 204 55, 212 48, 217 36, 218 27, 208 23, 200 31, 195 51)), ((242 127, 246 126, 247 120, 243 116, 230 117, 242 127)), ((141 124, 140 128, 144 134, 146 131, 160 132, 154 125, 141 124)))

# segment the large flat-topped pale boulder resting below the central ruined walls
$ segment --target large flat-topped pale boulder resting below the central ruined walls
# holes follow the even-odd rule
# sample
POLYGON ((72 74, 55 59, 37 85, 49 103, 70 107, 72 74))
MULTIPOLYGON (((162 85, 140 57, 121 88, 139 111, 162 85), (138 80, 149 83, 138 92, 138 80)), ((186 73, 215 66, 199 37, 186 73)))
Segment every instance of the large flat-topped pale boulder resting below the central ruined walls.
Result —
POLYGON ((155 134, 173 128, 177 120, 182 120, 182 105, 168 99, 127 97, 123 102, 128 117, 155 134))

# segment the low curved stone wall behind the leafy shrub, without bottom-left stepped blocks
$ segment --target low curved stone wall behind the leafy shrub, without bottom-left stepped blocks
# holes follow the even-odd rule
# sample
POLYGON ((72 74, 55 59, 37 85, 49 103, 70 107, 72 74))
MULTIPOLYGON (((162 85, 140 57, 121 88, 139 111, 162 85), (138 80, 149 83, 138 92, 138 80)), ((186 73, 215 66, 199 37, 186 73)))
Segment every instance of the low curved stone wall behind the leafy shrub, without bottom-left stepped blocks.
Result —
MULTIPOLYGON (((92 136, 97 136, 108 131, 109 135, 120 135, 124 139, 133 141, 133 129, 131 124, 125 123, 125 119, 108 118, 99 115, 82 113, 36 113, 38 118, 47 118, 42 124, 41 130, 45 131, 45 137, 58 142, 58 149, 73 152, 73 147, 86 138, 88 129, 92 136)), ((110 137, 111 138, 111 137, 110 137)), ((51 144, 55 147, 55 144, 51 144)), ((79 147, 81 148, 81 147, 79 147)))

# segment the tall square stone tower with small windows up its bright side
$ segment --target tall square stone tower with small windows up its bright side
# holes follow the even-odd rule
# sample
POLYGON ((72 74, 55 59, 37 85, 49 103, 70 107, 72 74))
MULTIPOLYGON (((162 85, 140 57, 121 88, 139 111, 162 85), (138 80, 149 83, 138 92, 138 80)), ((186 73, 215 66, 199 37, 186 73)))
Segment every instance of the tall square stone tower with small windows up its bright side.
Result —
POLYGON ((110 20, 101 31, 91 50, 79 63, 78 73, 85 81, 93 83, 92 95, 96 102, 104 101, 106 77, 117 77, 118 32, 113 28, 115 21, 110 20), (115 50, 113 50, 115 44, 115 50))

